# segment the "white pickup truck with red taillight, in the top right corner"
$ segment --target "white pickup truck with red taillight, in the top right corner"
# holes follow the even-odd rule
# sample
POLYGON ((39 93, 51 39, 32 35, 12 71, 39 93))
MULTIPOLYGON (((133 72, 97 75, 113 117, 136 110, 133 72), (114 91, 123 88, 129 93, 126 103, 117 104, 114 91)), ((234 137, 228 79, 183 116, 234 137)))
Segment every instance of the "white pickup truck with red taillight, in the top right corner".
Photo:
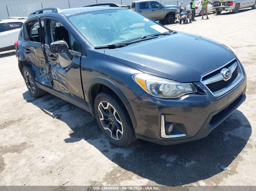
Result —
POLYGON ((216 14, 221 14, 221 11, 238 13, 239 9, 248 7, 255 9, 256 0, 214 1, 212 9, 215 10, 216 14))

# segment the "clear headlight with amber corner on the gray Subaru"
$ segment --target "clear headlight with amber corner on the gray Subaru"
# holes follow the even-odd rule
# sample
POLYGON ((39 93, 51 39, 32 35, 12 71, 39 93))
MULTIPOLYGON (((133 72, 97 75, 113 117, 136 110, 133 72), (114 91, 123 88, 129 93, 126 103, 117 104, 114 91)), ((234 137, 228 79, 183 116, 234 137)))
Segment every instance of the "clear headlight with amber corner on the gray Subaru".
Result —
POLYGON ((197 92, 192 83, 181 83, 148 74, 135 74, 133 79, 150 95, 161 98, 177 98, 197 92))

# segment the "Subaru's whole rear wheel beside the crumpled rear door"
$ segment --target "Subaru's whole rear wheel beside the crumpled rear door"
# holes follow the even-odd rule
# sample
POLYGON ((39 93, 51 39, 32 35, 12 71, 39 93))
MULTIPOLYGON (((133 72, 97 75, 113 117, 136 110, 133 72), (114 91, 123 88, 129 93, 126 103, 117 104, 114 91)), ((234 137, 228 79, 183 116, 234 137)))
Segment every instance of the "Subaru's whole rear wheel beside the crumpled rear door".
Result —
POLYGON ((30 66, 27 65, 23 67, 22 75, 27 85, 28 91, 33 97, 40 97, 47 93, 47 91, 38 88, 38 86, 35 84, 35 74, 30 66))

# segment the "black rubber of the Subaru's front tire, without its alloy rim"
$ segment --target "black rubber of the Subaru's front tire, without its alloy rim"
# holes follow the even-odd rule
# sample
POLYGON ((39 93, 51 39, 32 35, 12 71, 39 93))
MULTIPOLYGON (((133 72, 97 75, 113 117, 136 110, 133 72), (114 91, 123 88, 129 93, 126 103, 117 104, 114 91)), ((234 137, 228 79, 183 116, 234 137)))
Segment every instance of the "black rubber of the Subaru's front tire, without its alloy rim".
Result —
MULTIPOLYGON (((125 119, 125 116, 122 112, 121 107, 124 107, 124 105, 120 106, 118 104, 118 102, 116 101, 115 97, 110 96, 108 93, 100 93, 96 96, 95 98, 95 102, 94 102, 94 111, 95 111, 95 117, 97 119, 98 125, 100 126, 101 131, 103 132, 103 134, 106 136, 106 138, 108 138, 108 140, 113 143, 114 145, 120 146, 120 147, 124 147, 127 145, 128 141, 129 141, 129 130, 128 130, 128 126, 129 126, 129 122, 127 121, 127 119, 125 119), (105 129, 103 128, 103 126, 101 125, 101 121, 99 119, 99 114, 98 114, 98 105, 99 103, 101 103, 101 101, 107 101, 108 103, 110 103, 117 111, 122 125, 123 125, 123 136, 120 140, 115 140, 113 138, 111 138, 108 133, 105 131, 105 129)), ((131 120, 130 118, 128 120, 131 120)))

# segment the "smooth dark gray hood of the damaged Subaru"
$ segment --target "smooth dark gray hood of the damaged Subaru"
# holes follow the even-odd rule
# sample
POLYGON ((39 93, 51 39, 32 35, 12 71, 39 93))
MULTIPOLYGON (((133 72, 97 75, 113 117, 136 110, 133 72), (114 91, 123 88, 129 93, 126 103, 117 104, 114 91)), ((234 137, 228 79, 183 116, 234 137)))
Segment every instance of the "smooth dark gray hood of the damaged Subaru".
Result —
POLYGON ((235 56, 221 43, 178 32, 105 50, 105 57, 148 74, 180 82, 195 82, 200 81, 201 75, 235 56))

